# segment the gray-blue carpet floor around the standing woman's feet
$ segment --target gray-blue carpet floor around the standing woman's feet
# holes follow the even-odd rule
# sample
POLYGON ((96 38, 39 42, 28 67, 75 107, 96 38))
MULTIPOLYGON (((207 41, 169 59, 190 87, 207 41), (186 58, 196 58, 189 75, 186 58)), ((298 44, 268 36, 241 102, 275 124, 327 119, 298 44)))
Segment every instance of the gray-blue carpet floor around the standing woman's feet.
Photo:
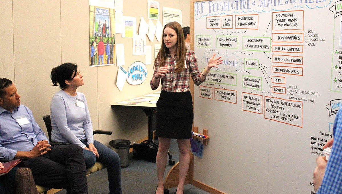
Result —
MULTIPOLYGON (((172 158, 179 161, 179 152, 177 140, 171 140, 169 151, 172 158)), ((165 176, 172 166, 167 165, 165 176)), ((129 166, 121 169, 122 193, 123 194, 154 194, 157 186, 156 164, 145 160, 132 159, 130 154, 129 166)), ((109 193, 107 169, 94 172, 88 176, 89 194, 107 194, 109 193)), ((169 189, 170 194, 176 193, 176 188, 169 189)), ((66 194, 65 190, 57 194, 66 194)), ((184 194, 209 194, 193 185, 184 186, 184 194)))

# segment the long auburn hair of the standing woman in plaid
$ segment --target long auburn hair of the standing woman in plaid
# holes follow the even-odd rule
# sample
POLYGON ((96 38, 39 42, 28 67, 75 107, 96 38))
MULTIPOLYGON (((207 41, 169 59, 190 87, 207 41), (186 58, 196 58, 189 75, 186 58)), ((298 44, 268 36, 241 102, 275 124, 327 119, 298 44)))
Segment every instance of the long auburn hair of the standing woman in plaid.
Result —
MULTIPOLYGON (((163 29, 163 37, 164 37, 164 30, 166 27, 169 27, 173 29, 176 34, 177 34, 177 50, 176 50, 176 68, 175 72, 180 72, 184 67, 184 59, 185 59, 185 54, 186 54, 186 47, 184 43, 184 34, 183 34, 183 29, 182 26, 178 22, 169 22, 164 26, 163 29)), ((158 52, 158 55, 156 59, 154 60, 154 66, 153 68, 155 69, 156 67, 156 62, 159 60, 159 67, 162 67, 165 65, 166 58, 169 54, 169 49, 166 47, 164 40, 161 41, 161 48, 158 52)))

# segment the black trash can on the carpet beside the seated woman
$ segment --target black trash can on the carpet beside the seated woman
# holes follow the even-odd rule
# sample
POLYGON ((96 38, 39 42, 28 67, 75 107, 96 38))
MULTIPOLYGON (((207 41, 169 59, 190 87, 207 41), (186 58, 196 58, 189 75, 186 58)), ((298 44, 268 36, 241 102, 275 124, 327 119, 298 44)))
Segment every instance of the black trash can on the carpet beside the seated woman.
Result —
POLYGON ((131 141, 129 140, 111 140, 109 145, 111 149, 116 152, 120 157, 120 167, 126 168, 129 163, 129 146, 131 141))

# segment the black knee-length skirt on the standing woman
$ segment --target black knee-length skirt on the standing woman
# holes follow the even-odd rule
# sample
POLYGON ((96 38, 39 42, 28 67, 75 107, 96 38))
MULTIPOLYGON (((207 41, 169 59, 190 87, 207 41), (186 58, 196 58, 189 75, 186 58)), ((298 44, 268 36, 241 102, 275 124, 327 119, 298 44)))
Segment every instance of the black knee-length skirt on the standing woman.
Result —
POLYGON ((161 91, 157 102, 156 135, 171 139, 191 138, 194 120, 190 91, 161 91))

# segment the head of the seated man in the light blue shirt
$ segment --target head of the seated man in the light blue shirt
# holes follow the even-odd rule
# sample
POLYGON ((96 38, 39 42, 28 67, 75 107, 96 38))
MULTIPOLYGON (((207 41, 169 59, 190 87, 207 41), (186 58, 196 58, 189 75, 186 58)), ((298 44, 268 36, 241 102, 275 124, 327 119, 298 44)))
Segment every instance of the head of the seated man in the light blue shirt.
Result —
POLYGON ((20 95, 13 82, 6 78, 0 78, 0 106, 12 112, 20 105, 20 95))

